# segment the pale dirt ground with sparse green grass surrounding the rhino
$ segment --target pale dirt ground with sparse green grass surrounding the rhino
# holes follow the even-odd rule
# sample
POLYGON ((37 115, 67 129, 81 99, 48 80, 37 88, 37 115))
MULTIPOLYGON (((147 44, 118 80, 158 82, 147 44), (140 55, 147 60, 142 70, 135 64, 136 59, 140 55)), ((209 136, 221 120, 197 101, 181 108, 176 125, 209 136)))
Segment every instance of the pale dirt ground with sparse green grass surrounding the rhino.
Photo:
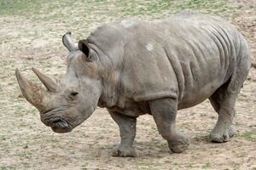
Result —
POLYGON ((235 137, 208 141, 217 114, 206 100, 178 111, 177 127, 191 138, 189 150, 173 154, 151 116, 140 116, 136 158, 112 157, 119 128, 106 109, 72 133, 53 133, 20 94, 15 68, 38 82, 31 67, 60 78, 67 68, 61 36, 78 41, 111 20, 164 18, 183 8, 218 14, 247 38, 256 61, 256 1, 25 1, 0 0, 0 170, 7 169, 250 169, 256 170, 256 69, 252 68, 236 103, 235 137))

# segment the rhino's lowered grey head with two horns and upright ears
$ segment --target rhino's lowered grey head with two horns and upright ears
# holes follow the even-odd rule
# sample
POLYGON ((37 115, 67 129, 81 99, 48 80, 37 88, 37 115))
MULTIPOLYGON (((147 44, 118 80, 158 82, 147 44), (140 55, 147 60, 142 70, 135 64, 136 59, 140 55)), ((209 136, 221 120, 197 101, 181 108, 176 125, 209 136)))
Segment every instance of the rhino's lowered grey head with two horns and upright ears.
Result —
POLYGON ((98 58, 86 40, 74 45, 71 33, 62 37, 68 49, 67 73, 56 82, 35 68, 45 88, 30 82, 16 69, 20 90, 26 100, 40 112, 41 121, 55 133, 67 133, 79 126, 93 111, 101 96, 101 78, 98 74, 98 58))

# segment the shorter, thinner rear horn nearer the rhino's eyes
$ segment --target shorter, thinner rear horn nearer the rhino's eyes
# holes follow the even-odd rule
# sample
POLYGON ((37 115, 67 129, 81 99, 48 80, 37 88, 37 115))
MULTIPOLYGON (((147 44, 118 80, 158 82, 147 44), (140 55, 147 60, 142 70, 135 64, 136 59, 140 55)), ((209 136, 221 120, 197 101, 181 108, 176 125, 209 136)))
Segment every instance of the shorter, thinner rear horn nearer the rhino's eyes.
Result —
POLYGON ((37 75, 41 82, 43 82, 45 88, 47 88, 50 92, 55 92, 57 89, 57 83, 53 81, 50 77, 44 75, 37 69, 32 67, 32 71, 37 75))

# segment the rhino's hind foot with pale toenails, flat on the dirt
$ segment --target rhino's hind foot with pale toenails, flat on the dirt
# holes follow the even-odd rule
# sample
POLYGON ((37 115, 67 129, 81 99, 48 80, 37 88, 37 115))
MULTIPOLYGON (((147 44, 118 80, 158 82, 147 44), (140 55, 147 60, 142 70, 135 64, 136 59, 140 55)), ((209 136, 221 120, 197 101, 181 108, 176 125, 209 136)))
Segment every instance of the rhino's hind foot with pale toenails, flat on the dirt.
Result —
POLYGON ((232 127, 219 131, 213 129, 212 133, 210 133, 210 139, 212 142, 223 143, 230 141, 233 135, 234 133, 232 127))

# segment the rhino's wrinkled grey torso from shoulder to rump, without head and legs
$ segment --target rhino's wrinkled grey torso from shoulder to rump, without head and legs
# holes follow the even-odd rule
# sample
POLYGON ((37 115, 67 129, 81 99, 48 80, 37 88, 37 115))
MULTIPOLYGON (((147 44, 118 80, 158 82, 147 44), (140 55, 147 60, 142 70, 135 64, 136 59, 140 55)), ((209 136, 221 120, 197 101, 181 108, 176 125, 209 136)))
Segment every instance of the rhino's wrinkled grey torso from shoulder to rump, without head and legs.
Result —
POLYGON ((171 97, 179 99, 179 109, 228 81, 241 45, 241 35, 226 21, 187 12, 154 22, 115 22, 90 39, 112 60, 115 85, 109 91, 121 105, 127 98, 171 97))

